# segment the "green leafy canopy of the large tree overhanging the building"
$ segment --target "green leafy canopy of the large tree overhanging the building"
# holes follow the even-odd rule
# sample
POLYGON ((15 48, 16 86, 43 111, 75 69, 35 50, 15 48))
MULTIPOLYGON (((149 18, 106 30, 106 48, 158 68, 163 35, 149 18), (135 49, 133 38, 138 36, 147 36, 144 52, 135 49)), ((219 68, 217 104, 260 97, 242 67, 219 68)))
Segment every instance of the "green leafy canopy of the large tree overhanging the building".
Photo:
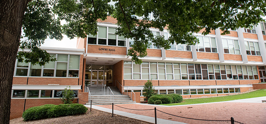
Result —
POLYGON ((50 58, 45 57, 48 54, 38 49, 47 36, 61 40, 62 33, 69 38, 96 35, 97 19, 105 20, 107 16, 112 16, 118 21, 117 34, 134 39, 128 55, 136 63, 141 63, 140 58, 147 55, 149 41, 165 49, 169 49, 171 43, 194 45, 198 40, 193 32, 205 29, 202 34, 207 35, 211 30, 220 28, 226 34, 230 33, 228 29, 257 25, 266 15, 265 0, 113 1, 116 2, 114 6, 108 4, 110 0, 30 1, 22 25, 23 37, 27 40, 21 41, 21 48, 30 48, 32 52, 19 52, 19 55, 24 55, 26 61, 33 63, 38 63, 39 58, 48 62, 50 58), (60 20, 65 20, 67 24, 60 25, 60 20), (168 40, 164 36, 155 37, 150 28, 160 31, 167 28, 171 36, 168 40))

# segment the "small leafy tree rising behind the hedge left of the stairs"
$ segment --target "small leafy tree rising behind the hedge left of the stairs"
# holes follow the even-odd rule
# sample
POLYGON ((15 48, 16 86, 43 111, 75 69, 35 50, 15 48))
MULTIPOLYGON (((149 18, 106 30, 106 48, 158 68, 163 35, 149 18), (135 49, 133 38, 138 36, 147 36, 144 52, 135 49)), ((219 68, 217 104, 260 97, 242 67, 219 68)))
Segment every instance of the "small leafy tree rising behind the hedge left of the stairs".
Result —
POLYGON ((60 97, 60 99, 62 100, 64 104, 72 104, 72 101, 74 100, 74 98, 75 98, 74 91, 71 89, 70 86, 69 86, 69 89, 65 88, 62 91, 62 97, 60 97))

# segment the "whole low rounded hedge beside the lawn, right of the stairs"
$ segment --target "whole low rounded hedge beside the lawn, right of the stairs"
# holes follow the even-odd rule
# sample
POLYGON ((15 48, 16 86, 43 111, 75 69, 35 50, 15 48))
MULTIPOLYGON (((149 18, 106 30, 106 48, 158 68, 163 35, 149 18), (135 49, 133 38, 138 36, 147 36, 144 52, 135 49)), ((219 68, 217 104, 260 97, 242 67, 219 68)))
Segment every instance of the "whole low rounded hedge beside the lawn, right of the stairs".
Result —
POLYGON ((148 99, 148 104, 156 104, 158 105, 158 100, 160 100, 161 104, 170 104, 170 103, 176 103, 176 102, 182 102, 183 98, 179 94, 158 94, 153 95, 148 99), (156 103, 155 103, 156 101, 156 103))

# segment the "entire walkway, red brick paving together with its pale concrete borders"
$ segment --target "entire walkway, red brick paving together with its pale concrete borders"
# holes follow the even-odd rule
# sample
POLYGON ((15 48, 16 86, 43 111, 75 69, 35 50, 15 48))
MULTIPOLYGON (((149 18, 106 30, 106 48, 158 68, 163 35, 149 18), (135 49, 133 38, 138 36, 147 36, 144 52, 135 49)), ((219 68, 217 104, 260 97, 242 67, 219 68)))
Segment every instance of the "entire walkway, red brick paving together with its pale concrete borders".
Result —
MULTIPOLYGON (((178 115, 187 118, 208 119, 208 120, 230 120, 231 117, 234 120, 246 124, 266 124, 266 103, 262 103, 261 100, 266 100, 266 97, 257 97, 249 99, 239 99, 225 102, 214 103, 202 103, 192 105, 176 105, 176 106, 164 106, 164 105, 150 105, 150 104, 119 104, 114 106, 114 114, 126 116, 129 118, 135 118, 150 123, 155 123, 154 110, 149 111, 137 111, 130 109, 154 109, 167 112, 173 115, 178 115), (260 102, 259 102, 260 101, 260 102), (189 108, 191 107, 191 108, 189 108)), ((86 105, 87 107, 90 107, 86 105)), ((94 109, 112 112, 112 105, 93 105, 94 109)), ((177 124, 229 124, 230 122, 213 122, 202 120, 191 120, 185 118, 179 118, 172 115, 168 115, 157 111, 157 120, 159 123, 177 123, 177 124), (172 119, 169 119, 172 118, 172 119)))

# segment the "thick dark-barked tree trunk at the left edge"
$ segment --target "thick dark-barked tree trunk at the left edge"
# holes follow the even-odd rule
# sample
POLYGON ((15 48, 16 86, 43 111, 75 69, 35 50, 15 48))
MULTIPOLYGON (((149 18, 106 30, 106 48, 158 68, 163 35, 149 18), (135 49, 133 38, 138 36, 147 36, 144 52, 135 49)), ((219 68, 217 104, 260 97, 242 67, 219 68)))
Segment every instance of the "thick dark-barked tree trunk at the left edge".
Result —
POLYGON ((9 124, 12 80, 27 0, 0 1, 0 123, 9 124))

